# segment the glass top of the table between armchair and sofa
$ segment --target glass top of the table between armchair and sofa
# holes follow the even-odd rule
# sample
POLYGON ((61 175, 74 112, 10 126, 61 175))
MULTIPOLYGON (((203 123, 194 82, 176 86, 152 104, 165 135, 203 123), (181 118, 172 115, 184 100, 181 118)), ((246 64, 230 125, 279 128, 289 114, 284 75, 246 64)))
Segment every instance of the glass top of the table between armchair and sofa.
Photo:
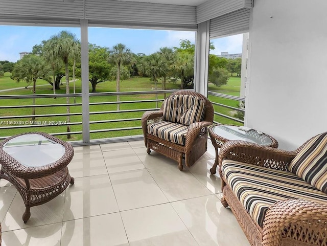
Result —
POLYGON ((254 129, 248 131, 240 130, 239 126, 231 125, 217 125, 213 127, 213 132, 228 140, 243 140, 250 143, 271 145, 272 140, 262 132, 258 132, 254 129))

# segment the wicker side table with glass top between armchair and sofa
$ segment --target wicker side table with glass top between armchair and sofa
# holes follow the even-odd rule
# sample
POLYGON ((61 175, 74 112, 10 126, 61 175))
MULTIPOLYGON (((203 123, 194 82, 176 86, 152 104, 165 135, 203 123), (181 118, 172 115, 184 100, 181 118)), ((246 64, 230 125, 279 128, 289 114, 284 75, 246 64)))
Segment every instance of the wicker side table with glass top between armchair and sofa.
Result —
POLYGON ((208 127, 211 142, 216 150, 216 160, 213 167, 210 169, 211 174, 216 173, 218 165, 218 148, 220 148, 225 142, 229 140, 243 140, 255 144, 266 145, 273 148, 278 147, 278 142, 266 133, 249 129, 244 131, 239 129, 239 126, 235 125, 212 125, 208 127))

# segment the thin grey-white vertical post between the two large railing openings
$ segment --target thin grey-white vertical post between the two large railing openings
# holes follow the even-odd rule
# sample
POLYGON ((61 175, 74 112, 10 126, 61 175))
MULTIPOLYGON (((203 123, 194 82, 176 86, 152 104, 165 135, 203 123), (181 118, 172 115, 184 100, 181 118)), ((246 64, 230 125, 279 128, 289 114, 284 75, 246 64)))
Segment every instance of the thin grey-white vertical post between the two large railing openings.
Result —
POLYGON ((88 88, 88 21, 81 19, 81 70, 82 70, 82 131, 83 143, 90 142, 89 88, 88 88))

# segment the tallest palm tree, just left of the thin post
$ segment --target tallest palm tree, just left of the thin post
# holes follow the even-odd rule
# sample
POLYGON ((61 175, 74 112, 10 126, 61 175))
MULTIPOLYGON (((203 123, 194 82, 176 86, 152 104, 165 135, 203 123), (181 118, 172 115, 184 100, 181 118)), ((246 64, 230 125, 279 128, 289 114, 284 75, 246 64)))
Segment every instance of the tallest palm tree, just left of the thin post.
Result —
MULTIPOLYGON (((81 54, 79 41, 76 39, 75 34, 68 31, 61 31, 53 35, 46 45, 44 46, 44 56, 46 60, 62 60, 65 64, 65 78, 66 78, 66 94, 69 94, 69 59, 76 59, 81 54)), ((67 114, 70 114, 69 97, 66 98, 67 114)), ((67 132, 71 131, 71 122, 69 115, 67 115, 67 132)), ((70 139, 71 135, 67 134, 67 139, 70 139)))

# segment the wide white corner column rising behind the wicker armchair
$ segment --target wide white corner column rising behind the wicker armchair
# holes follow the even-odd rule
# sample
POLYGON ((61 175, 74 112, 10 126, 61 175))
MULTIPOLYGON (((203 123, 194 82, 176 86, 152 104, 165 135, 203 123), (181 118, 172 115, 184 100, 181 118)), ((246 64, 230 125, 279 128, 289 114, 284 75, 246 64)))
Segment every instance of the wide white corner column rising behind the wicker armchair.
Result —
POLYGON ((210 21, 198 24, 195 44, 194 78, 195 91, 207 96, 209 68, 209 28, 210 21))

